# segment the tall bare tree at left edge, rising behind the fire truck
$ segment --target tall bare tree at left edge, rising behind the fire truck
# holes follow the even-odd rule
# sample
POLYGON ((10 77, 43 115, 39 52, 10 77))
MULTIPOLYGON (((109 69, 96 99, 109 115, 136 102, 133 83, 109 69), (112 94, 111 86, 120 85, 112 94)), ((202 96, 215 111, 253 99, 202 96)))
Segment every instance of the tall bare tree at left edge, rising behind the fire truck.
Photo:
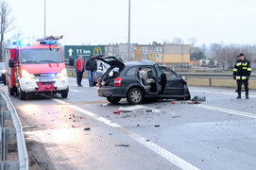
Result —
POLYGON ((15 19, 10 16, 11 11, 12 9, 5 0, 0 2, 0 60, 3 60, 4 35, 14 28, 12 23, 15 19))

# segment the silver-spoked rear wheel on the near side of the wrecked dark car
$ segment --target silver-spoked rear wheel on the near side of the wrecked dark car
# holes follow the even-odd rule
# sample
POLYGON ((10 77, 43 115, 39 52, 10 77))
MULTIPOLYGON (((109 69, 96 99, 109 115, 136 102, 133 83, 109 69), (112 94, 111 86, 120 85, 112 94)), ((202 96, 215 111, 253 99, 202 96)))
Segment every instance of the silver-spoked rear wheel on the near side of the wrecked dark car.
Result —
POLYGON ((131 105, 136 105, 142 103, 144 99, 143 93, 138 88, 133 88, 128 91, 128 103, 131 105))

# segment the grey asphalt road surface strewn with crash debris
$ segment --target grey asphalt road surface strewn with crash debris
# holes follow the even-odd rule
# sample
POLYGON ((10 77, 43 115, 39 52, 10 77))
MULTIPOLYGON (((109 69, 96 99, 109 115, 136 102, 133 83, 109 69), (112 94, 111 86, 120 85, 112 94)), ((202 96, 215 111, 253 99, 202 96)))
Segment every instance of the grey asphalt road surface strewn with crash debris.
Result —
MULTIPOLYGON (((189 86, 206 101, 111 105, 83 78, 70 93, 10 96, 23 123, 29 169, 241 170, 256 167, 256 91, 189 86), (120 113, 114 113, 121 110, 120 113)), ((8 91, 7 87, 0 88, 8 91)))

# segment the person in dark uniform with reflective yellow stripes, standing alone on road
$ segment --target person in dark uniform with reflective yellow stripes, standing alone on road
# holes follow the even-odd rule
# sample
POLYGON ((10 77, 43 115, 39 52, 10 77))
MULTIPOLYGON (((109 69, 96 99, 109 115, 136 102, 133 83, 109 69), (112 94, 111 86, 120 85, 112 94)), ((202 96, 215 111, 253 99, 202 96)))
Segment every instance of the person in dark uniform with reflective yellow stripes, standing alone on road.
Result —
POLYGON ((245 86, 246 98, 248 99, 248 79, 251 73, 250 61, 245 59, 245 55, 240 53, 237 56, 239 59, 236 61, 233 67, 233 79, 236 79, 237 84, 237 99, 241 98, 241 87, 242 84, 245 86))

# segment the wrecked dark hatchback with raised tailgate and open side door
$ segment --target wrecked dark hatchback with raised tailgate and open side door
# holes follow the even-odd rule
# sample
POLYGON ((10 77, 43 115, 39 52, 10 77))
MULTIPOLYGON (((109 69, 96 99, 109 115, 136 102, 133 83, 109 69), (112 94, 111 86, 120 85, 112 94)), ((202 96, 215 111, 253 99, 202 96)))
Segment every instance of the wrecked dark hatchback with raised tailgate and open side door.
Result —
POLYGON ((115 57, 96 57, 110 65, 98 79, 98 96, 106 97, 112 104, 127 98, 129 104, 140 104, 145 99, 191 98, 184 76, 160 66, 151 60, 123 62, 115 57))

